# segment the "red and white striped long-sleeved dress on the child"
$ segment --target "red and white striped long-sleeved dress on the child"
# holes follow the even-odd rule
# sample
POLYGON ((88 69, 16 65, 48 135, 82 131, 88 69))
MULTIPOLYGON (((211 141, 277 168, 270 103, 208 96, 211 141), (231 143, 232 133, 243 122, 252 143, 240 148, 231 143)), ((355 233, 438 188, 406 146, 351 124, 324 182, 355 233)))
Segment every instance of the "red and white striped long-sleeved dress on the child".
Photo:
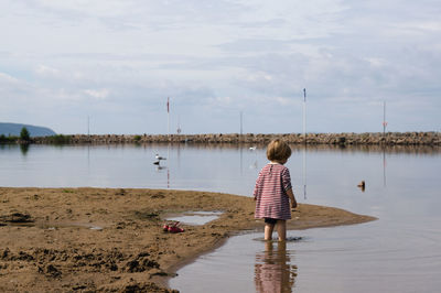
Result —
POLYGON ((277 163, 262 167, 256 181, 255 218, 290 219, 291 209, 287 191, 291 189, 289 169, 277 163))

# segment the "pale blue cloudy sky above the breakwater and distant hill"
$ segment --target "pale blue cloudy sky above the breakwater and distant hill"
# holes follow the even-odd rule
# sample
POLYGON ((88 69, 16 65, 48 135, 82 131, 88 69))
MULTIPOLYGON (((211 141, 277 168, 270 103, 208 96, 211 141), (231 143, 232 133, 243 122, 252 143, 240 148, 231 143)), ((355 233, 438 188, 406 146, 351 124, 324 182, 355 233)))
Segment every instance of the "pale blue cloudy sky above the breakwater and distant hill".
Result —
POLYGON ((441 131, 439 0, 1 0, 0 44, 0 122, 441 131))

